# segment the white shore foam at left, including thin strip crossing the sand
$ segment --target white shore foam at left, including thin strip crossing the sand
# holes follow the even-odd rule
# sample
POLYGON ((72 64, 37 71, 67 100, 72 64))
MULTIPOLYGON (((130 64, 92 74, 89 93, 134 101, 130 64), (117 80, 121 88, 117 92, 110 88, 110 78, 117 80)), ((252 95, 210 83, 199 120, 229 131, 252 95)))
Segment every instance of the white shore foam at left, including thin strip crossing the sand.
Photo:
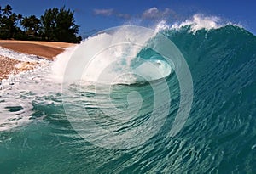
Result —
POLYGON ((51 87, 52 81, 49 80, 49 60, 40 59, 35 55, 17 53, 6 48, 0 48, 0 55, 40 63, 34 70, 9 75, 8 79, 0 82, 0 131, 5 131, 32 122, 32 101, 35 97, 40 98, 45 93, 57 89, 51 87))

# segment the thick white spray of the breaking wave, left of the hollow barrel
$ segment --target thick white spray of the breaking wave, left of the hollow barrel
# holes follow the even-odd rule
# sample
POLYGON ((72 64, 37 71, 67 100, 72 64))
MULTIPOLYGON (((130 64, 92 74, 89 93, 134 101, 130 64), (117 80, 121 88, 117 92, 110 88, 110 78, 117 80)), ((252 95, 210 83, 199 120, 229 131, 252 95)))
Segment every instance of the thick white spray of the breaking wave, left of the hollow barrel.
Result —
POLYGON ((65 76, 70 81, 111 83, 117 76, 131 73, 131 61, 154 33, 127 26, 113 31, 91 36, 57 56, 52 69, 55 80, 62 81, 65 76))

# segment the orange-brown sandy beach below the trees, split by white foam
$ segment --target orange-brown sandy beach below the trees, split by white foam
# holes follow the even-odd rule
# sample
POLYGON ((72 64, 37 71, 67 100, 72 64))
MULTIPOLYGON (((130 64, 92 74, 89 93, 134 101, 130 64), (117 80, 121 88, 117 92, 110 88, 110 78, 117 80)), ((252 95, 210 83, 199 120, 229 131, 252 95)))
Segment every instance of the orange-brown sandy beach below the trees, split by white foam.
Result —
MULTIPOLYGON (((66 42, 35 42, 0 40, 0 47, 8 48, 15 52, 38 55, 43 59, 53 60, 55 56, 63 52, 65 48, 72 47, 73 43, 66 42)), ((0 81, 7 79, 9 74, 17 74, 22 70, 30 70, 34 63, 21 62, 0 55, 0 81), (24 65, 24 68, 16 68, 15 65, 24 65)))

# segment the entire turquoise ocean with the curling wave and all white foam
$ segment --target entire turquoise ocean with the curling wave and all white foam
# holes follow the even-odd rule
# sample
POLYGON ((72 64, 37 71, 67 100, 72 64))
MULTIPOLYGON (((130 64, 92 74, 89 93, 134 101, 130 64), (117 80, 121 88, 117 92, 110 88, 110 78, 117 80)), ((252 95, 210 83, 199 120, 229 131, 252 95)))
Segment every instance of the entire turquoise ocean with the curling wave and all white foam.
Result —
POLYGON ((91 36, 2 81, 0 173, 255 173, 255 65, 210 18, 91 36))

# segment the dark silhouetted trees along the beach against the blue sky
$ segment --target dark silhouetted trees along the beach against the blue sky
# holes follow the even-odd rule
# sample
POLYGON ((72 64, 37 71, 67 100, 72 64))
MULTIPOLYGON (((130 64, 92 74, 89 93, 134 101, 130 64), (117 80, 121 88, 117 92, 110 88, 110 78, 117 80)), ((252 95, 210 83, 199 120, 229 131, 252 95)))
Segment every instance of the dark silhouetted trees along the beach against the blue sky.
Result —
POLYGON ((0 39, 80 42, 79 25, 70 9, 50 8, 38 19, 12 12, 10 5, 0 6, 0 39))

